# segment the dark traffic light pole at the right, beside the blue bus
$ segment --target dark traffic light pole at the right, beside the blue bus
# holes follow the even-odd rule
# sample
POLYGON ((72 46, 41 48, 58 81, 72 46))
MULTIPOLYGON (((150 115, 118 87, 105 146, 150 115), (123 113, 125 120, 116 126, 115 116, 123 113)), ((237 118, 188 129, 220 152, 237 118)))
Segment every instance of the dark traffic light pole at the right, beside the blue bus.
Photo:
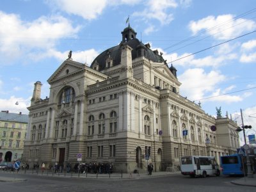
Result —
MULTIPOLYGON (((240 132, 243 131, 244 134, 244 150, 250 150, 249 145, 246 143, 246 135, 245 135, 245 129, 252 129, 251 125, 244 125, 244 120, 243 120, 243 113, 241 109, 241 120, 242 120, 242 127, 238 127, 236 131, 240 132)), ((247 166, 247 177, 253 178, 253 173, 251 169, 251 163, 250 163, 250 157, 249 154, 246 152, 246 166, 247 166)))

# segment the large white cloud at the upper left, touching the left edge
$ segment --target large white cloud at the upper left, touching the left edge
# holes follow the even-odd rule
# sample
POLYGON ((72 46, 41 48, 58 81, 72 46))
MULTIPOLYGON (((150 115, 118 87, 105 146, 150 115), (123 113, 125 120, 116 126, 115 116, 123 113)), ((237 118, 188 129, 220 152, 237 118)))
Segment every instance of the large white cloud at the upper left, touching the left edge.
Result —
POLYGON ((0 26, 5 26, 0 28, 1 60, 13 60, 31 50, 37 50, 40 55, 40 52, 54 47, 58 39, 75 37, 79 31, 79 27, 73 28, 70 21, 61 16, 24 22, 19 15, 3 12, 0 12, 0 26))

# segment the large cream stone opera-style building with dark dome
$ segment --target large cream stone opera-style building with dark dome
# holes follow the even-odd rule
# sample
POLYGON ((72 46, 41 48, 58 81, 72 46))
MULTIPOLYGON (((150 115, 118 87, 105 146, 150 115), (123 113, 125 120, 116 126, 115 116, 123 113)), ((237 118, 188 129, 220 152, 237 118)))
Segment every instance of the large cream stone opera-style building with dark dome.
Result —
POLYGON ((47 82, 41 99, 37 81, 29 106, 24 161, 111 163, 115 171, 155 171, 179 166, 180 157, 232 154, 239 147, 237 124, 207 115, 179 94, 175 67, 136 38, 130 26, 119 45, 88 67, 72 52, 47 82), (207 141, 205 143, 205 141, 207 141), (77 156, 79 154, 79 156, 77 156))

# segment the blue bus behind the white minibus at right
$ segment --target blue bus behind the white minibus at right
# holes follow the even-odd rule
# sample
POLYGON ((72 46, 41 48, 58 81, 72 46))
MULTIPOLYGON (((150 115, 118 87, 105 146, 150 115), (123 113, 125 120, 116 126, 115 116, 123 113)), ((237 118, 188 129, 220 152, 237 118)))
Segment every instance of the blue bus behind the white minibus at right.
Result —
POLYGON ((220 164, 223 175, 246 175, 247 173, 245 156, 238 154, 221 156, 220 164))

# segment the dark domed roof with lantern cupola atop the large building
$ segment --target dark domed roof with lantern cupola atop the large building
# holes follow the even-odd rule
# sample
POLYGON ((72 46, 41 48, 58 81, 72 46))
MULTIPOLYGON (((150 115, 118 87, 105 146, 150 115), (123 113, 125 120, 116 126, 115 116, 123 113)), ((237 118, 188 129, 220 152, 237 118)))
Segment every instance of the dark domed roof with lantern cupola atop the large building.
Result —
MULTIPOLYGON (((138 54, 138 50, 143 49, 145 50, 143 54, 145 58, 157 63, 162 63, 164 59, 161 55, 158 54, 158 51, 152 51, 148 44, 144 45, 143 43, 141 43, 140 40, 136 38, 136 34, 137 33, 130 26, 125 28, 124 31, 122 31, 122 42, 119 45, 111 47, 100 53, 99 56, 97 56, 95 60, 93 60, 91 68, 93 67, 93 64, 97 63, 99 65, 99 71, 103 70, 104 68, 106 68, 106 60, 108 58, 113 61, 112 67, 119 65, 121 62, 121 48, 124 44, 129 45, 132 48, 132 60, 141 57, 141 55, 138 54)), ((166 62, 164 61, 164 63, 166 62)))

